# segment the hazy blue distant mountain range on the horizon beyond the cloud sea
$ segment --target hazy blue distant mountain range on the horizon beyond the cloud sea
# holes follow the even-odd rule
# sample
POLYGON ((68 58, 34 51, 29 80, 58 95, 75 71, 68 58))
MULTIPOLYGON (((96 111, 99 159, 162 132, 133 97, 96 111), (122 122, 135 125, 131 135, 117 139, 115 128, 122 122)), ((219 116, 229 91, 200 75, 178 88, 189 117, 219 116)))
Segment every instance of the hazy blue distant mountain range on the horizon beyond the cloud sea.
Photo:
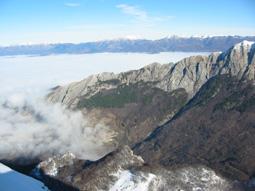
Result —
POLYGON ((255 41, 255 36, 167 37, 159 40, 118 39, 79 44, 57 43, 0 47, 0 56, 85 54, 102 52, 215 52, 225 51, 243 40, 255 41))

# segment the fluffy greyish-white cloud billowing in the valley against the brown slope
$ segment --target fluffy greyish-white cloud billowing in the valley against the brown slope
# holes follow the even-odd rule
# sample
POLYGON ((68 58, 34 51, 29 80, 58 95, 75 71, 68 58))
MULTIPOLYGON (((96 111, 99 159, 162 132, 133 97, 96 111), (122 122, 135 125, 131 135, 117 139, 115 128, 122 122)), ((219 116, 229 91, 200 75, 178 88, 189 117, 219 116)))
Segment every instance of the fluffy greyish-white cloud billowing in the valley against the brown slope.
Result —
POLYGON ((79 111, 44 100, 12 95, 0 106, 0 159, 45 158, 72 152, 95 160, 110 151, 114 135, 104 124, 90 126, 79 111))

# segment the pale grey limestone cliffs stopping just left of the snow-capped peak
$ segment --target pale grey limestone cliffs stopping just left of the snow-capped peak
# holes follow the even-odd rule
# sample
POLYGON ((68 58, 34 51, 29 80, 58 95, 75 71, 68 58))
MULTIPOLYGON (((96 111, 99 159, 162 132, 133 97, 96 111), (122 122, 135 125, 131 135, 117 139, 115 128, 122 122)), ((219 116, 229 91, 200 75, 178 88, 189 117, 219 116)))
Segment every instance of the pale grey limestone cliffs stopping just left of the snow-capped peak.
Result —
POLYGON ((49 94, 51 102, 61 102, 70 108, 76 108, 80 97, 87 98, 102 90, 118 87, 121 84, 137 82, 154 82, 153 86, 164 91, 184 88, 193 95, 199 87, 210 77, 211 65, 218 54, 207 56, 193 56, 176 64, 153 63, 140 70, 128 71, 120 74, 102 73, 92 75, 80 82, 59 87, 49 94))

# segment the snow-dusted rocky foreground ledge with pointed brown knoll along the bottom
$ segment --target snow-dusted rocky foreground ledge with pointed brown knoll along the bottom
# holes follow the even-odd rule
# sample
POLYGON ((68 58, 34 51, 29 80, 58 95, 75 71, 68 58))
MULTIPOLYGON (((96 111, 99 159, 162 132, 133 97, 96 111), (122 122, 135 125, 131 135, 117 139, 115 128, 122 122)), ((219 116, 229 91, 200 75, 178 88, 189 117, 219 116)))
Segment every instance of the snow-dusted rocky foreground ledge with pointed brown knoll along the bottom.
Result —
MULTIPOLYGON (((240 185, 217 175, 206 166, 165 169, 148 166, 125 146, 97 162, 82 162, 64 155, 39 164, 36 176, 51 185, 61 180, 73 190, 239 190, 240 185), (64 159, 64 160, 63 160, 64 159)), ((70 189, 70 188, 69 188, 70 189)), ((67 189, 67 190, 69 190, 67 189)))

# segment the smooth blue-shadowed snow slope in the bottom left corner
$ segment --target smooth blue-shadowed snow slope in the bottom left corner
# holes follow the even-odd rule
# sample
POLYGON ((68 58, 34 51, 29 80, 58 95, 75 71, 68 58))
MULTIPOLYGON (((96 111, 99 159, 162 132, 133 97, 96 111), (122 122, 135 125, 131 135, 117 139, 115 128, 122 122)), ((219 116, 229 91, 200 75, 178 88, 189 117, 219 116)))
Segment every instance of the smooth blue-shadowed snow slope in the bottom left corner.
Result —
POLYGON ((43 183, 0 163, 1 191, 49 191, 43 183))

